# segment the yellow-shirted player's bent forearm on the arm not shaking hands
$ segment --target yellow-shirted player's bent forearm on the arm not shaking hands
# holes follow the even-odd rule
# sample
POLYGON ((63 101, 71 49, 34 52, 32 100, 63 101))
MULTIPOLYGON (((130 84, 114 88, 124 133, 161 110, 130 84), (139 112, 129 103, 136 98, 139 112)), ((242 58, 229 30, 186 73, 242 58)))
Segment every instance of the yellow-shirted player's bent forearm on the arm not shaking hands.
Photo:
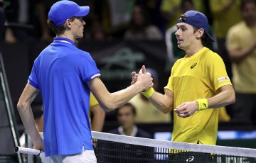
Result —
POLYGON ((228 86, 227 88, 208 99, 208 108, 220 108, 235 103, 235 91, 233 87, 228 86))

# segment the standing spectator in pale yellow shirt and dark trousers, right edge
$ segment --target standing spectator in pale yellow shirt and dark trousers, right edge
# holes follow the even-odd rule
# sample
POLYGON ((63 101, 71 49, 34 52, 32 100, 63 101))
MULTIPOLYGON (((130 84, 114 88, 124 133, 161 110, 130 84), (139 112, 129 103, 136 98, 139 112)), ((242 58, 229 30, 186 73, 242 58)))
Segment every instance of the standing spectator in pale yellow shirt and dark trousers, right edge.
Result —
POLYGON ((243 21, 232 26, 227 37, 237 96, 233 120, 256 124, 256 1, 242 0, 240 8, 243 21))

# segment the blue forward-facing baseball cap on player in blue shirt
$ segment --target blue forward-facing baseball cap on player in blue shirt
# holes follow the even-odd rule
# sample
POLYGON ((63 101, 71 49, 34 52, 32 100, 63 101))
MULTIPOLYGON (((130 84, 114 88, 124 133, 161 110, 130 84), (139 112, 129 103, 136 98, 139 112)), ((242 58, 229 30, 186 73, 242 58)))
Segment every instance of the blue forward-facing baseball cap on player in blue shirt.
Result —
POLYGON ((56 2, 50 7, 48 19, 54 23, 55 27, 58 27, 73 16, 87 16, 89 11, 89 6, 79 6, 73 1, 63 0, 56 2))

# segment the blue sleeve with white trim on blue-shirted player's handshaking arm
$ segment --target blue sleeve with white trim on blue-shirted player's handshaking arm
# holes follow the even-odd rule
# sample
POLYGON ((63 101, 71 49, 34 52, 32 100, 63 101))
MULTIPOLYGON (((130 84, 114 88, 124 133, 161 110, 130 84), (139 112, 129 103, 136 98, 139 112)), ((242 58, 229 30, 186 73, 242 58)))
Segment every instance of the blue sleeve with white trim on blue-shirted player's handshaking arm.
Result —
POLYGON ((97 69, 95 61, 89 53, 85 52, 79 57, 76 65, 82 81, 87 83, 95 77, 100 77, 100 70, 97 69))

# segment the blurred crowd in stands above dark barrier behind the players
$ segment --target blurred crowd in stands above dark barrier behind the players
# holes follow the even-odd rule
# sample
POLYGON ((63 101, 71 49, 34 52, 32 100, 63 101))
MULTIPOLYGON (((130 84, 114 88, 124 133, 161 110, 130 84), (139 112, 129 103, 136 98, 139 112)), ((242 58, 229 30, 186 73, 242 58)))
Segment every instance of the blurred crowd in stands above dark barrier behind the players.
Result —
MULTIPOLYGON (((51 40, 46 25, 50 6, 56 0, 1 0, 4 3, 6 22, 33 26, 33 30, 6 28, 7 43, 28 38, 51 40), (23 31, 21 31, 23 30, 23 31), (26 37, 25 37, 26 36, 26 37)), ((188 9, 201 11, 208 16, 218 39, 225 38, 228 28, 241 20, 240 0, 74 0, 90 6, 86 18, 86 40, 124 38, 130 40, 161 40, 166 30, 176 25, 178 16, 188 9), (223 14, 225 13, 225 14, 223 14)), ((218 42, 219 43, 219 42, 218 42)))

